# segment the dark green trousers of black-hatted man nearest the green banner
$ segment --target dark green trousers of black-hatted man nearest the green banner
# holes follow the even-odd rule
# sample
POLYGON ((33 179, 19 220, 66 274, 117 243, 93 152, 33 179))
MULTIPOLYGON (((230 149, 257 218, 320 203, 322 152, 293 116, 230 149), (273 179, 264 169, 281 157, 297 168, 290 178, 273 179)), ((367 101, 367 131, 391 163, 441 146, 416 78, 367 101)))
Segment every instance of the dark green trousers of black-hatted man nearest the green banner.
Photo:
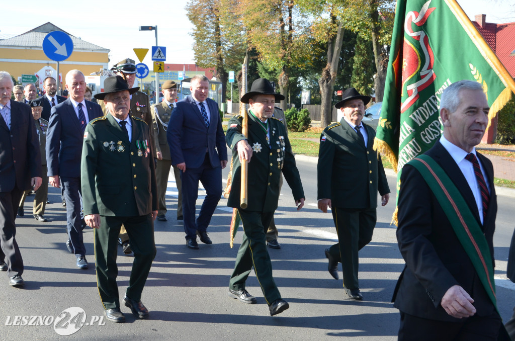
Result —
POLYGON ((372 240, 376 221, 375 208, 358 210, 333 206, 332 213, 338 234, 338 244, 331 246, 329 253, 335 260, 341 262, 344 272, 344 287, 359 288, 358 251, 372 240))

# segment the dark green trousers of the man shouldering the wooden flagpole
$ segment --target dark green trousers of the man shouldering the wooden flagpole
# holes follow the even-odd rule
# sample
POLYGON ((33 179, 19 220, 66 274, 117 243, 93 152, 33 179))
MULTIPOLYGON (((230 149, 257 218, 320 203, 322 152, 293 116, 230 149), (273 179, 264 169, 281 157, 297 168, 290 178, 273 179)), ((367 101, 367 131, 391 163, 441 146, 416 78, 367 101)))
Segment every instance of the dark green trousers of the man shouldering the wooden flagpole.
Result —
POLYGON ((242 244, 239 246, 229 287, 233 290, 245 289, 245 281, 254 266, 254 272, 265 300, 270 305, 273 301, 281 298, 276 282, 272 278, 272 262, 265 242, 265 233, 270 225, 273 212, 238 210, 238 213, 242 218, 245 234, 242 244))

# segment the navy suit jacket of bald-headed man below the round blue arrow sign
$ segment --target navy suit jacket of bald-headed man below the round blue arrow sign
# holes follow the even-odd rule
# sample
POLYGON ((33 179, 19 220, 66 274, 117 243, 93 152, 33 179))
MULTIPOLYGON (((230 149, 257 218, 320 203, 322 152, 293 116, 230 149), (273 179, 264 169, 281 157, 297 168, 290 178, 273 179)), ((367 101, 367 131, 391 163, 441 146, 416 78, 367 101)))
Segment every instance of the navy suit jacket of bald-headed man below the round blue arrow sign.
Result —
MULTIPOLYGON (((89 120, 102 116, 96 103, 85 101, 89 120)), ((52 108, 46 136, 48 176, 80 177, 84 134, 70 98, 52 108)))

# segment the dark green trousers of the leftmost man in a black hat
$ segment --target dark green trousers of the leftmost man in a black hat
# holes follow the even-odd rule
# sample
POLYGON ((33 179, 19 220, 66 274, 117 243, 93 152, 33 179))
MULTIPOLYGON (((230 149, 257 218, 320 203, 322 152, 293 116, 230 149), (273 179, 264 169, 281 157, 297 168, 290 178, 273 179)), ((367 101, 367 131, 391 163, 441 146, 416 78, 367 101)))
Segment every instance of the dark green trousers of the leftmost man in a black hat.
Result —
POLYGON ((98 294, 104 309, 120 306, 116 285, 116 276, 118 276, 116 240, 122 224, 129 234, 130 246, 134 252, 126 294, 136 302, 141 299, 152 261, 156 257, 152 214, 134 217, 100 216, 100 228, 94 229, 95 262, 98 294))

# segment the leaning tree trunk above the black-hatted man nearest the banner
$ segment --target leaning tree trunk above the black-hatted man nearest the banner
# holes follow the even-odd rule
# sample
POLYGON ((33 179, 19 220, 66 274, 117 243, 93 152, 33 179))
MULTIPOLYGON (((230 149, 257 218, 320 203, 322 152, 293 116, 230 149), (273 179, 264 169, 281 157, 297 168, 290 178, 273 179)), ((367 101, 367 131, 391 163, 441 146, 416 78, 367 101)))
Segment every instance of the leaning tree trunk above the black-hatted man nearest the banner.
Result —
MULTIPOLYGON (((336 18, 332 18, 336 22, 336 18)), ((320 86, 321 110, 320 110, 320 127, 324 128, 331 124, 331 115, 333 111, 333 92, 334 83, 336 81, 336 72, 338 71, 338 62, 341 52, 341 44, 344 40, 344 27, 340 22, 336 35, 329 40, 327 48, 327 65, 322 70, 318 85, 320 86)))

